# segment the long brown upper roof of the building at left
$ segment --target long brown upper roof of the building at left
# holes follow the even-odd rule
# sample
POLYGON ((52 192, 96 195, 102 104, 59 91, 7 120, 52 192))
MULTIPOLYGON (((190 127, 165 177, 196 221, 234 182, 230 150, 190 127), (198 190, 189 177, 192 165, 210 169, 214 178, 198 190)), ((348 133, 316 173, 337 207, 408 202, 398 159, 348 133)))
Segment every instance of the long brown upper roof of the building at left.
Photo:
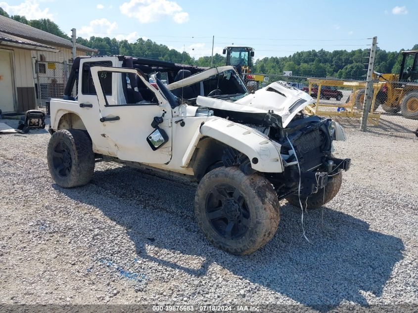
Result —
MULTIPOLYGON (((42 45, 57 45, 72 48, 71 41, 52 35, 35 27, 12 20, 11 18, 0 15, 0 32, 20 38, 20 40, 32 41, 42 45)), ((77 50, 84 52, 97 52, 96 49, 89 48, 85 45, 76 44, 77 50)))

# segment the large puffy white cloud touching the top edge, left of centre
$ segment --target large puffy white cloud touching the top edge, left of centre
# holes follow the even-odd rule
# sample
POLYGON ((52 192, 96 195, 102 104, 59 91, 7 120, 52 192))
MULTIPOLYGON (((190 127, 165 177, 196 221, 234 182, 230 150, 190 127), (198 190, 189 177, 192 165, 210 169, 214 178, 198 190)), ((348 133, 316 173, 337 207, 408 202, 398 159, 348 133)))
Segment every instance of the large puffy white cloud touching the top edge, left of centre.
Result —
POLYGON ((140 23, 152 23, 163 17, 172 17, 176 23, 188 21, 188 13, 175 1, 168 0, 130 0, 119 6, 122 14, 134 17, 140 23))

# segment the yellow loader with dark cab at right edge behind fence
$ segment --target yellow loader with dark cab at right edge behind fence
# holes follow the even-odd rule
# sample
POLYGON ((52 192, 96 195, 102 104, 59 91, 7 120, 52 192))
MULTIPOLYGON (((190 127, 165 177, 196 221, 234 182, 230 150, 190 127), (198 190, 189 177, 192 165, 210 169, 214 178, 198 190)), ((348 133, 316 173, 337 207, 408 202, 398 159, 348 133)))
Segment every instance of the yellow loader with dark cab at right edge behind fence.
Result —
MULTIPOLYGON (((418 50, 401 51, 402 63, 398 73, 373 72, 373 79, 385 82, 376 96, 375 108, 381 105, 389 113, 401 111, 410 119, 418 119, 418 50)), ((365 89, 355 95, 356 106, 363 106, 365 89)))

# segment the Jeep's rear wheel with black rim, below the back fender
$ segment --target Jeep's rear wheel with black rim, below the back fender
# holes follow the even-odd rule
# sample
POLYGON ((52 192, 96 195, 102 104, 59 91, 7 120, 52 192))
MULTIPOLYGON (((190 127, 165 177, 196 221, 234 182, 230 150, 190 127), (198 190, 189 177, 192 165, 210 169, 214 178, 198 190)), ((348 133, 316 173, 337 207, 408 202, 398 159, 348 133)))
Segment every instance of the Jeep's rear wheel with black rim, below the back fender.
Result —
POLYGON ((61 187, 82 186, 93 177, 92 141, 84 131, 60 130, 53 133, 46 158, 52 179, 61 187))

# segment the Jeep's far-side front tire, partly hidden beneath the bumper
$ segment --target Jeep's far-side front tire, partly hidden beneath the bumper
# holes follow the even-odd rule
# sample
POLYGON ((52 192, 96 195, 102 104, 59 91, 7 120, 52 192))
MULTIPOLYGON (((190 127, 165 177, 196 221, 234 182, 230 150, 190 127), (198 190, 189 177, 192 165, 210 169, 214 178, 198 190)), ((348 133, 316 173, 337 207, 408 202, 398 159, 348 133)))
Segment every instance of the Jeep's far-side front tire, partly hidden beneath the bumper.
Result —
MULTIPOLYGON (((313 193, 310 196, 308 196, 308 200, 306 200, 306 198, 304 197, 300 198, 300 202, 302 202, 302 206, 304 209, 306 204, 307 209, 318 209, 324 204, 331 201, 336 196, 341 187, 342 172, 340 171, 338 174, 331 176, 328 179, 331 178, 332 181, 329 181, 325 186, 325 194, 323 188, 318 190, 317 193, 313 193)), ((297 194, 286 197, 286 200, 295 207, 300 208, 299 196, 297 194)))

